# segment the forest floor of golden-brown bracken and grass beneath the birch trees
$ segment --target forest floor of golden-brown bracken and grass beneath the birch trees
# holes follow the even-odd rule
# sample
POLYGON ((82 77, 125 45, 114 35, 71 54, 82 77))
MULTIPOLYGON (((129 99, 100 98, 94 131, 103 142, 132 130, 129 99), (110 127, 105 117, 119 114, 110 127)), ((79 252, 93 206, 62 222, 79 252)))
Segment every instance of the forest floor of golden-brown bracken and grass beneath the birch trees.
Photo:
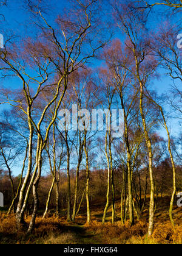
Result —
MULTIPOLYGON (((111 208, 107 213, 106 224, 101 224, 103 202, 92 202, 92 224, 86 223, 86 210, 81 209, 75 223, 66 221, 66 216, 59 219, 50 217, 36 219, 35 231, 26 236, 17 232, 15 216, 0 213, 0 244, 181 244, 182 243, 182 208, 174 206, 175 230, 172 229, 168 208, 169 197, 158 199, 155 212, 155 230, 151 238, 147 238, 148 210, 145 210, 140 221, 130 227, 127 221, 124 226, 120 221, 120 201, 116 201, 116 222, 110 223, 111 208)), ((25 221, 30 221, 28 216, 25 221)))

